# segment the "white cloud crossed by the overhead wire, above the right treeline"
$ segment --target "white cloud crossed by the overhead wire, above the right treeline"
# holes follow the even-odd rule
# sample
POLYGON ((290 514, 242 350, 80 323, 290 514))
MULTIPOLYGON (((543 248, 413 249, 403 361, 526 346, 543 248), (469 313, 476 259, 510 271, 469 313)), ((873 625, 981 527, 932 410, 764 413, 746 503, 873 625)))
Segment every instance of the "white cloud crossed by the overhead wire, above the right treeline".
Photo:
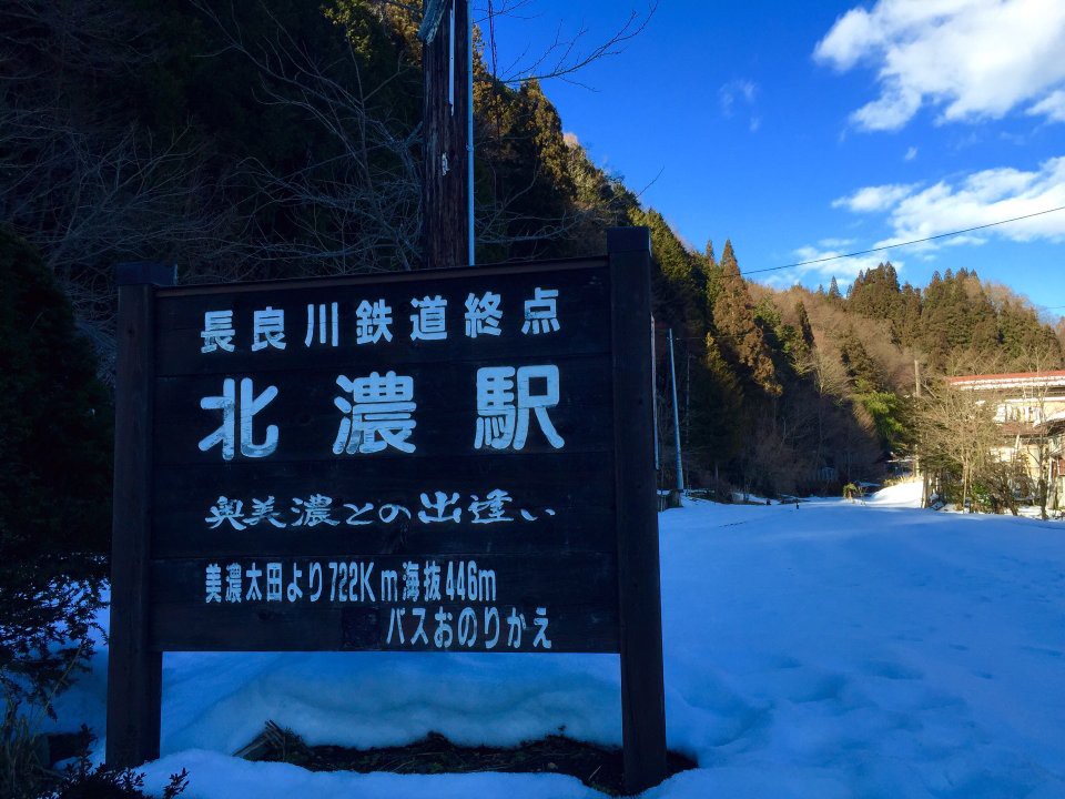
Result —
MULTIPOLYGON (((990 169, 927 188, 865 186, 832 205, 854 213, 886 214, 892 235, 873 246, 925 239, 1065 205, 1065 158, 1049 159, 1032 171, 990 169)), ((931 252, 945 245, 978 244, 994 236, 1065 242, 1065 211, 987 227, 976 235, 929 242, 922 249, 931 252)))

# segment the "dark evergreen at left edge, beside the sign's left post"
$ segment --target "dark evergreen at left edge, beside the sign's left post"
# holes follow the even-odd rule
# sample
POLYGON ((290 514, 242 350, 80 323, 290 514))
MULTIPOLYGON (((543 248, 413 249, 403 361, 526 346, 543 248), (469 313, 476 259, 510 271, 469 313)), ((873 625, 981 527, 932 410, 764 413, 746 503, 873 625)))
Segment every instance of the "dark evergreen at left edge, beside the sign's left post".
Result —
POLYGON ((0 689, 40 700, 100 606, 112 411, 70 301, 3 229, 0 363, 0 689))

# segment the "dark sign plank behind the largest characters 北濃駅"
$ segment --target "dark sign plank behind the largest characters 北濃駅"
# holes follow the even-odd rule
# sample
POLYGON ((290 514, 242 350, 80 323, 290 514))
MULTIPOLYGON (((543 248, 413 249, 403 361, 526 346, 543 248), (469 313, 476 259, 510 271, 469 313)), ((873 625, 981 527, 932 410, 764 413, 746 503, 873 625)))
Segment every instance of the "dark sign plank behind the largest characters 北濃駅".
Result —
MULTIPOLYGON (((234 381, 233 393, 237 396, 245 377, 252 380, 253 396, 257 397, 271 386, 276 388, 273 397, 253 418, 253 441, 264 441, 270 425, 277 427, 277 446, 270 455, 271 462, 329 461, 354 458, 378 462, 377 468, 386 468, 393 462, 412 458, 438 458, 456 453, 476 454, 478 457, 524 456, 532 453, 565 455, 580 452, 607 452, 610 448, 610 362, 605 356, 587 358, 559 358, 555 362, 530 364, 520 357, 493 364, 398 364, 381 362, 375 371, 384 374, 398 368, 402 376, 412 378, 413 401, 410 411, 415 427, 409 436, 412 453, 402 453, 388 447, 377 453, 357 455, 333 454, 341 424, 345 417, 335 401, 352 400, 352 392, 337 385, 337 377, 349 380, 365 377, 366 371, 314 370, 306 372, 281 372, 267 378, 255 373, 234 373, 226 378, 234 381), (528 437, 520 453, 490 447, 474 449, 477 432, 477 373, 483 365, 557 366, 559 401, 545 408, 550 424, 562 439, 556 448, 547 435, 538 415, 527 413, 528 437), (591 423, 592 421, 597 423, 591 423)), ((224 380, 220 375, 194 375, 164 377, 156 382, 155 413, 165 424, 155 432, 155 452, 160 464, 212 464, 222 462, 221 446, 203 452, 199 442, 222 423, 222 411, 204 411, 203 397, 221 397, 224 380)), ((531 381, 534 392, 542 392, 542 380, 531 381), (538 382, 540 381, 540 382, 538 382)), ((237 397, 239 398, 239 397, 237 397)), ((349 418, 349 417, 348 417, 349 418)), ((237 425, 239 427, 239 425, 237 425)), ((260 461, 245 457, 239 444, 234 445, 234 461, 260 461)))

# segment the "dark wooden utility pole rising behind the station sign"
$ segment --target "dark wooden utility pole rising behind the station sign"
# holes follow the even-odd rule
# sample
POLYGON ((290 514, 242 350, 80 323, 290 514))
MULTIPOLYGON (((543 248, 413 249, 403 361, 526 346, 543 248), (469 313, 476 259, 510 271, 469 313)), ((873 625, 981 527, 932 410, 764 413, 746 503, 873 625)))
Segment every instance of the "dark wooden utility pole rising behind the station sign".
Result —
POLYGON ((418 38, 424 48, 422 230, 425 265, 463 266, 474 260, 469 0, 427 2, 418 38))

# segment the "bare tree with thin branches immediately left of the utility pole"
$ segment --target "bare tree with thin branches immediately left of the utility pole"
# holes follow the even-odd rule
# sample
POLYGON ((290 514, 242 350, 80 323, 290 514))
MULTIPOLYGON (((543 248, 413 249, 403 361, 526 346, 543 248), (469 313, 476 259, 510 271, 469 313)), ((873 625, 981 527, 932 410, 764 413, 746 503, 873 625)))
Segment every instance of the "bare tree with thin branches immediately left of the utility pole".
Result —
POLYGON ((235 52, 254 65, 260 102, 296 111, 334 145, 327 156, 290 172, 258 160, 242 164, 262 203, 298 210, 300 234, 264 243, 260 255, 303 262, 316 274, 416 269, 420 128, 387 115, 377 102, 404 65, 368 85, 349 42, 342 64, 321 63, 265 6, 273 36, 250 41, 232 14, 221 16, 213 3, 193 4, 222 33, 220 52, 235 52))

